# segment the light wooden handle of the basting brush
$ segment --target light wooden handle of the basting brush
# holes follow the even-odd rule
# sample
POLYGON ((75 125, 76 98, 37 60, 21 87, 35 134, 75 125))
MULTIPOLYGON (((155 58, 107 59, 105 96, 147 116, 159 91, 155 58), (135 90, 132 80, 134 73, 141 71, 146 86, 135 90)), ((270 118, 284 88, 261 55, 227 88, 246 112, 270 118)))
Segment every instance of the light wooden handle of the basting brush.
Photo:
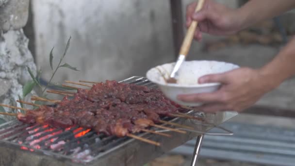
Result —
MULTIPOLYGON (((205 0, 198 0, 195 12, 198 12, 202 9, 204 1, 205 0)), ((194 21, 192 21, 192 24, 188 28, 186 35, 183 39, 182 46, 181 46, 180 52, 179 52, 180 55, 186 56, 187 53, 189 52, 193 38, 194 38, 194 33, 196 31, 196 28, 197 28, 197 21, 194 20, 194 21)))

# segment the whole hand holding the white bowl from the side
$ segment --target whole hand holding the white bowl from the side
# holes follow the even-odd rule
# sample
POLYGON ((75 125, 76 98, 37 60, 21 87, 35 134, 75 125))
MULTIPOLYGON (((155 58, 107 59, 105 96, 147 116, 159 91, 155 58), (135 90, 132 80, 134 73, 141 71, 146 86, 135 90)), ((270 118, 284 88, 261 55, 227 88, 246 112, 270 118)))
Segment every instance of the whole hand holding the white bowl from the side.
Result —
POLYGON ((238 68, 221 74, 199 78, 199 83, 222 83, 213 93, 180 95, 179 100, 203 102, 196 110, 204 112, 242 111, 255 104, 266 92, 275 88, 259 70, 238 68))

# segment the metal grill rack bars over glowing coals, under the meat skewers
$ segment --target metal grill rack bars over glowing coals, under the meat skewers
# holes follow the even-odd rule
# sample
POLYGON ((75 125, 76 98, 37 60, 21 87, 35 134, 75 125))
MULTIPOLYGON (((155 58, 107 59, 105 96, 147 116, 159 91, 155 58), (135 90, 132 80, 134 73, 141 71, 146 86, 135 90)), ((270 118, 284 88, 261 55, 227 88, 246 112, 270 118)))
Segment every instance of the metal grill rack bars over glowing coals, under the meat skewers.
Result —
MULTIPOLYGON (((157 87, 144 77, 136 76, 123 80, 121 83, 135 83, 137 85, 146 85, 149 88, 157 87)), ((194 111, 190 111, 187 114, 204 116, 199 113, 194 113, 194 111)), ((180 118, 165 118, 163 120, 170 120, 184 124, 183 119, 180 118)), ((196 137, 198 134, 232 135, 232 132, 222 127, 218 127, 214 125, 214 123, 204 124, 192 119, 187 119, 187 122, 190 125, 193 125, 195 130, 183 128, 178 129, 191 132, 186 138, 188 140, 196 137), (208 130, 211 128, 219 128, 227 133, 208 133, 208 130)), ((153 130, 155 129, 153 128, 153 130)), ((128 137, 106 137, 103 134, 98 135, 93 131, 89 131, 88 133, 85 133, 85 135, 75 138, 75 135, 85 131, 86 129, 79 127, 62 130, 49 128, 48 125, 29 126, 28 124, 24 124, 18 120, 12 120, 0 125, 0 144, 13 145, 17 149, 26 150, 35 154, 45 154, 59 160, 68 160, 74 163, 86 164, 98 160, 112 151, 120 149, 120 147, 124 147, 132 141, 135 141, 134 139, 128 137)), ((157 130, 157 132, 169 131, 157 130)), ((177 133, 173 133, 172 135, 175 134, 177 133)), ((139 133, 136 135, 155 138, 157 140, 160 139, 156 138, 158 136, 150 133, 139 133)))

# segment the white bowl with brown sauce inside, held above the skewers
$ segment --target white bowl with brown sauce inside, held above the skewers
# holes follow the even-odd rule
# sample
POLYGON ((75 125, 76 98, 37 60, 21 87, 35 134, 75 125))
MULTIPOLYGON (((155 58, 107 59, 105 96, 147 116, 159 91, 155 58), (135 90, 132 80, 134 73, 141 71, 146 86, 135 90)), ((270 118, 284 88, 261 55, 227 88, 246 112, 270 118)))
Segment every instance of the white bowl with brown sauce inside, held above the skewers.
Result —
POLYGON ((218 61, 184 61, 180 67, 177 83, 166 83, 175 63, 164 64, 151 68, 147 72, 147 79, 156 83, 164 95, 184 106, 199 106, 202 103, 183 102, 177 99, 178 95, 208 93, 218 90, 220 83, 199 84, 198 78, 207 74, 223 73, 239 68, 239 66, 218 61))

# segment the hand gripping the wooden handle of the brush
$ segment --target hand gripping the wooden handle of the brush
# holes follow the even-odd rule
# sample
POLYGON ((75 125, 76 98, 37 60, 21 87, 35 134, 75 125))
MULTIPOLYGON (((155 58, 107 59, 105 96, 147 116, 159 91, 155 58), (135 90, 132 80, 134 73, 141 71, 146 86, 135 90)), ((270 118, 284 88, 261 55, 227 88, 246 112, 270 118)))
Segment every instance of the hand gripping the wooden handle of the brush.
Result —
POLYGON ((205 0, 203 8, 195 13, 197 2, 191 3, 186 9, 186 26, 189 27, 192 20, 198 21, 195 39, 202 39, 201 32, 214 35, 228 35, 240 30, 238 10, 228 8, 213 0, 205 0))

